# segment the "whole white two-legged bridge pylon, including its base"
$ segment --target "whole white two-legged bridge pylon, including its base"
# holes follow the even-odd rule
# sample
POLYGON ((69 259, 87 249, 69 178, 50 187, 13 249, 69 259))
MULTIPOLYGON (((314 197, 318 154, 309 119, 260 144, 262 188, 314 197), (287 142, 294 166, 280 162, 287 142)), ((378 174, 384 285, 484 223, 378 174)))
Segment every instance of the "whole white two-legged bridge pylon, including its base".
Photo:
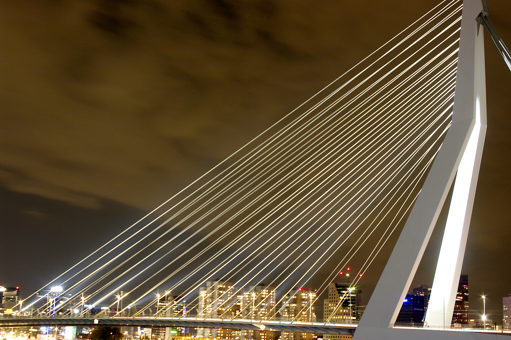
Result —
POLYGON ((354 340, 487 339, 505 335, 449 331, 486 132, 485 0, 464 0, 452 125, 357 327, 354 340), (456 182, 424 329, 393 328, 440 210, 456 182))

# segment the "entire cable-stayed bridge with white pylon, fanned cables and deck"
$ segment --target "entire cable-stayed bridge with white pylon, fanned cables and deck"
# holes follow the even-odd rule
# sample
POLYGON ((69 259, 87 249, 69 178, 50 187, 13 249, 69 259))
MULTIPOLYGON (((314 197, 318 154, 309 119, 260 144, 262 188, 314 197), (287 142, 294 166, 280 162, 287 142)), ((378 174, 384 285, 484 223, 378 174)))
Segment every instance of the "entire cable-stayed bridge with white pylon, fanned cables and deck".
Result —
POLYGON ((466 338, 440 329, 484 141, 487 14, 443 1, 0 322, 352 334, 357 286, 403 229, 355 338, 466 338), (455 176, 426 331, 410 335, 392 326, 455 176))

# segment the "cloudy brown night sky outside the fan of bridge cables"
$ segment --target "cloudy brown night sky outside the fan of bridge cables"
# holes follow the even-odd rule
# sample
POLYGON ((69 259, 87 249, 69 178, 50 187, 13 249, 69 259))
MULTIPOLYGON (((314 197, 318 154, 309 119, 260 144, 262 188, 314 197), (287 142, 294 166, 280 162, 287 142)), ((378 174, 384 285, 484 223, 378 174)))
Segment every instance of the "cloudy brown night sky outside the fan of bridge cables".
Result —
MULTIPOLYGON (((1 4, 0 285, 27 297, 437 2, 1 4)), ((488 5, 511 46, 511 2, 488 5)), ((484 293, 501 324, 511 293, 511 72, 486 32, 485 58, 487 132, 462 273, 470 309, 482 309, 484 293)), ((412 287, 432 283, 441 237, 438 228, 412 287)), ((364 303, 388 256, 361 286, 364 303)))

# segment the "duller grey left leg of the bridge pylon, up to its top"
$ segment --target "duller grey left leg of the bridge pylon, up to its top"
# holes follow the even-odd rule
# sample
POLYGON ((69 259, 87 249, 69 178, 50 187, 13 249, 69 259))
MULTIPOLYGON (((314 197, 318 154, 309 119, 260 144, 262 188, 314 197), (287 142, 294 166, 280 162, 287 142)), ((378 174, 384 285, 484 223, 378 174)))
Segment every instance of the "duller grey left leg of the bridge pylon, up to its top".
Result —
MULTIPOLYGON (((398 336, 400 331, 403 330, 391 330, 389 327, 392 327, 396 321, 403 299, 424 254, 476 123, 478 90, 476 90, 475 84, 477 78, 479 78, 479 66, 476 71, 476 18, 482 9, 481 0, 463 1, 452 125, 369 300, 355 332, 354 340, 409 337, 404 332, 401 332, 403 337, 398 336), (393 335, 387 337, 390 334, 393 335)), ((482 45, 480 48, 482 48, 482 45)), ((482 145, 479 151, 482 151, 482 145)), ((474 171, 474 174, 477 175, 477 172, 474 171)), ((472 200, 474 191, 475 185, 474 190, 472 188, 470 190, 472 200)), ((467 213, 471 211, 471 207, 467 209, 467 213)), ((466 240, 466 238, 466 235, 462 235, 461 240, 466 240)), ((459 247, 458 254, 461 253, 461 257, 458 256, 457 263, 462 262, 463 255, 461 251, 464 252, 464 242, 459 247)), ((414 330, 410 331, 413 332, 414 330)), ((431 333, 426 336, 428 338, 439 338, 436 336, 440 335, 432 336, 431 333)), ((467 338, 467 336, 464 335, 463 338, 467 338)))

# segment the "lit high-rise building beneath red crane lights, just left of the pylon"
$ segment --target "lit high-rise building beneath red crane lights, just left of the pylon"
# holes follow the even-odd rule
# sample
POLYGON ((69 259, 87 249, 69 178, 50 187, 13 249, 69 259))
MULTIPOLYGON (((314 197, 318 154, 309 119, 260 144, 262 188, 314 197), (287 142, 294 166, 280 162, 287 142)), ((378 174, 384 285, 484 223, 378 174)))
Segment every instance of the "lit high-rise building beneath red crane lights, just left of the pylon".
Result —
MULTIPOLYGON (((323 322, 352 324, 360 320, 360 294, 349 282, 331 283, 328 298, 323 300, 323 322)), ((323 334, 324 340, 349 340, 352 335, 323 334)))

